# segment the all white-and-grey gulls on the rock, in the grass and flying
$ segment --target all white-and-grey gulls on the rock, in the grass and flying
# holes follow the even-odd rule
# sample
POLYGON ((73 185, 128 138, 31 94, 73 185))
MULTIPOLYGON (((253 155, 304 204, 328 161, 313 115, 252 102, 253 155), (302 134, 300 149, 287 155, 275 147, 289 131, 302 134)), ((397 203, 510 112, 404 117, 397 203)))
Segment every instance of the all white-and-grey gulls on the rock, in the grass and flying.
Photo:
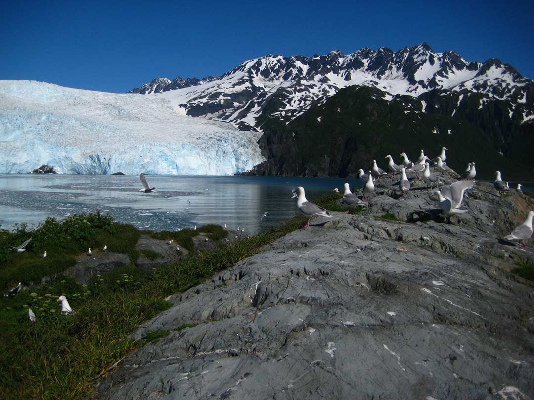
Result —
MULTIPOLYGON (((434 163, 436 165, 436 168, 439 172, 447 173, 451 175, 454 178, 457 178, 458 180, 456 182, 451 183, 450 185, 444 185, 439 187, 439 189, 434 190, 432 193, 437 195, 439 208, 443 211, 445 215, 450 217, 451 215, 455 214, 463 214, 468 212, 466 209, 462 209, 462 201, 464 198, 464 194, 466 190, 469 190, 475 186, 475 177, 476 177, 476 169, 475 169, 475 163, 469 163, 467 165, 467 169, 464 173, 459 174, 455 171, 453 171, 449 166, 446 164, 447 155, 445 153, 447 149, 446 147, 441 148, 441 154, 439 154, 437 157, 430 159, 425 155, 425 151, 421 149, 421 154, 417 160, 417 162, 413 163, 410 161, 410 158, 406 153, 400 153, 400 157, 402 157, 403 161, 402 164, 395 164, 393 157, 388 154, 386 157, 388 159, 388 170, 392 177, 395 177, 397 173, 400 173, 402 177, 400 178, 398 182, 398 188, 402 191, 402 196, 405 197, 406 193, 411 189, 411 183, 410 180, 407 177, 407 173, 414 173, 415 179, 422 180, 427 185, 429 185, 430 189, 433 189, 435 187, 439 187, 440 184, 443 184, 443 182, 439 181, 439 177, 435 174, 432 174, 430 172, 430 163, 434 163)), ((373 160, 373 166, 371 170, 367 171, 367 174, 364 172, 363 169, 360 169, 358 172, 358 178, 364 182, 364 194, 362 198, 357 196, 356 194, 352 193, 350 190, 349 183, 344 183, 344 191, 343 191, 343 197, 342 201, 344 204, 349 206, 362 206, 365 207, 368 205, 368 201, 372 199, 373 192, 375 190, 374 181, 373 179, 376 179, 377 181, 380 180, 380 177, 388 175, 388 172, 382 170, 378 164, 376 163, 376 160, 373 160), (367 202, 366 202, 367 201, 367 202)), ((499 196, 502 192, 511 190, 508 182, 504 182, 502 180, 502 176, 500 171, 495 172, 496 179, 493 182, 493 187, 499 192, 499 196)), ((140 181, 143 185, 142 189, 139 189, 140 191, 144 193, 150 193, 152 191, 155 191, 155 187, 150 187, 148 185, 148 182, 146 180, 146 177, 144 174, 140 174, 140 181)), ((517 184, 516 190, 521 191, 521 183, 517 184)), ((335 188, 334 191, 339 193, 339 189, 335 188)), ((293 198, 297 198, 297 208, 299 211, 308 218, 308 221, 306 225, 303 227, 303 229, 307 229, 310 225, 310 220, 315 217, 325 217, 325 218, 333 218, 333 212, 325 210, 323 207, 318 206, 317 204, 310 203, 308 199, 306 198, 306 195, 304 193, 304 188, 302 186, 297 187, 296 189, 293 189, 293 198)), ((261 216, 261 220, 267 216, 267 212, 263 213, 261 216)), ((523 241, 525 239, 528 239, 532 235, 532 219, 534 218, 534 211, 530 211, 527 215, 527 218, 525 221, 518 227, 516 227, 511 234, 508 236, 505 236, 504 239, 508 240, 518 240, 520 241, 520 245, 524 247, 523 241)), ((226 224, 224 224, 224 228, 227 229, 226 224)), ((197 226, 195 225, 192 229, 196 230, 197 226)), ((238 231, 244 232, 245 228, 237 228, 238 231)), ((237 238, 237 236, 236 236, 237 238)), ((29 238, 24 243, 20 244, 17 247, 10 246, 10 249, 17 253, 23 253, 26 251, 25 247, 30 243, 32 238, 29 238)), ((208 241, 208 238, 206 237, 206 242, 208 241)), ((167 242, 168 245, 172 245, 172 240, 167 242)), ((102 251, 106 251, 107 246, 104 246, 102 251)), ((176 246, 176 252, 180 251, 179 245, 176 246)), ((92 250, 89 248, 87 255, 92 256, 92 250)), ((41 254, 42 258, 47 257, 46 251, 41 254)), ((22 284, 19 282, 17 286, 15 286, 13 289, 11 289, 9 292, 5 293, 5 297, 13 297, 15 294, 19 293, 21 290, 22 284)), ((61 313, 62 314, 72 314, 73 310, 70 307, 67 298, 64 295, 61 295, 58 300, 58 302, 61 302, 61 313)), ((28 308, 28 316, 30 322, 35 322, 35 314, 32 311, 31 308, 28 308)))

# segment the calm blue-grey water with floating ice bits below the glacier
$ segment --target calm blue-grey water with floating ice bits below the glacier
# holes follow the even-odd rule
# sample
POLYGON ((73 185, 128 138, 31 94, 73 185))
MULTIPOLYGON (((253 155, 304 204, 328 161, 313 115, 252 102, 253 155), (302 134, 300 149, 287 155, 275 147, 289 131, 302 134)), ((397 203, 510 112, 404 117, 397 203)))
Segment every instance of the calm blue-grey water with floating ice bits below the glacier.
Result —
MULTIPOLYGON (((308 198, 346 179, 270 177, 177 177, 149 175, 153 193, 142 193, 138 176, 0 175, 0 224, 37 225, 47 217, 101 210, 138 228, 169 230, 227 223, 256 233, 297 214, 291 189, 303 186, 308 198), (188 202, 189 201, 189 202, 188 202), (261 215, 268 212, 260 221, 261 215)), ((351 187, 359 185, 349 180, 351 187)))

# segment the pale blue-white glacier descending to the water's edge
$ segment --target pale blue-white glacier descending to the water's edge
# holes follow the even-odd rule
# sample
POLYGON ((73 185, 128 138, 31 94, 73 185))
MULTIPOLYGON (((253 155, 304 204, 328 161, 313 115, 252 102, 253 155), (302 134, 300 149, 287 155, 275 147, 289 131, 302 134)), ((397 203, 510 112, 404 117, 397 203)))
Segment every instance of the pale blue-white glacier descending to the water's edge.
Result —
POLYGON ((264 161, 260 135, 166 99, 0 81, 0 173, 232 175, 264 161))

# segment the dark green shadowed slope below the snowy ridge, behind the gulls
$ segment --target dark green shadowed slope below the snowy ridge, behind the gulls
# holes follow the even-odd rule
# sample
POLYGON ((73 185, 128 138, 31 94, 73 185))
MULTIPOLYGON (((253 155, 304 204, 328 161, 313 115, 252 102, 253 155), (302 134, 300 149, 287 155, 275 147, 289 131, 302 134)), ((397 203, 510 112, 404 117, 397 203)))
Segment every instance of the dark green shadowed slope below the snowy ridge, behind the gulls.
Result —
POLYGON ((534 177, 534 123, 520 123, 523 105, 514 111, 509 101, 466 89, 384 97, 374 87, 351 86, 287 125, 269 119, 259 142, 266 161, 255 173, 354 177, 373 159, 386 169, 387 154, 400 163, 402 151, 413 160, 421 148, 435 157, 446 146, 457 172, 475 162, 478 178, 493 179, 495 170, 506 180, 534 177))

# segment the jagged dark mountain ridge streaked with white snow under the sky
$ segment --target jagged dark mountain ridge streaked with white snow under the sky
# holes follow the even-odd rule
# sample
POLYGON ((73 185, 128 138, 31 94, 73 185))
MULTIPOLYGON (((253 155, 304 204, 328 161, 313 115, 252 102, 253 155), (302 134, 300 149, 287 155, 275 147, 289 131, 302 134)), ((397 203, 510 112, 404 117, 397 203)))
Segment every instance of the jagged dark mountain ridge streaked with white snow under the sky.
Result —
POLYGON ((398 94, 417 97, 433 89, 468 90, 508 100, 512 108, 521 104, 527 110, 524 119, 534 117, 531 79, 498 59, 469 62, 453 51, 436 53, 426 43, 397 52, 382 47, 348 55, 340 51, 313 57, 267 55, 245 61, 220 77, 178 77, 172 82, 157 78, 130 93, 167 99, 184 115, 229 122, 241 130, 261 130, 266 118, 287 123, 313 102, 325 101, 352 85, 376 87, 387 100, 398 94))

